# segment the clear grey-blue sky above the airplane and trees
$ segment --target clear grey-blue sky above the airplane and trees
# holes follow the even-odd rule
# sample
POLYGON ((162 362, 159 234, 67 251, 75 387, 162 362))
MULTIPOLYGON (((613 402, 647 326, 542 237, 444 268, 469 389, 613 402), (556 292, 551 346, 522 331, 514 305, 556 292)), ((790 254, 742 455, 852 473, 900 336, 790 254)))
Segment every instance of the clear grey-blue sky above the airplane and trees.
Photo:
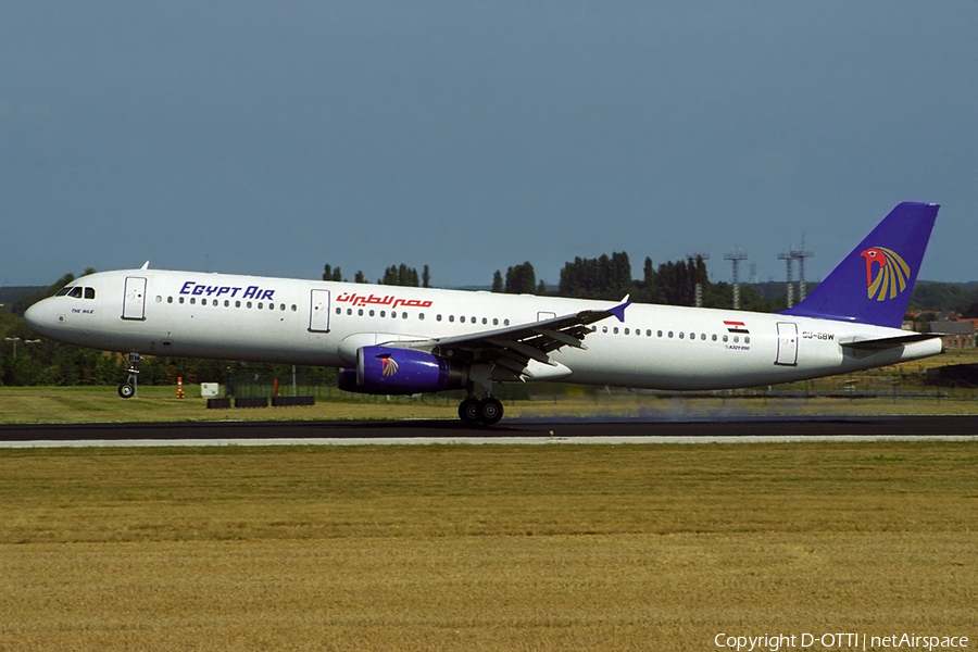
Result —
POLYGON ((978 3, 0 4, 0 285, 151 267, 440 287, 815 255, 942 205, 978 280, 978 3))

